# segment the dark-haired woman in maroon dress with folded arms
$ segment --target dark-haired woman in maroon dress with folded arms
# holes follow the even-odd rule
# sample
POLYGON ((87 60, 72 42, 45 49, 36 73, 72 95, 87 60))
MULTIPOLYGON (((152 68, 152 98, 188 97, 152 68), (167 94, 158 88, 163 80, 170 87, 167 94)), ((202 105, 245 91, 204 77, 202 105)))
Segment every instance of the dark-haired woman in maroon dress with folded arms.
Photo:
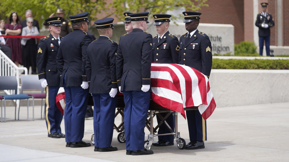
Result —
MULTIPOLYGON (((9 17, 9 23, 5 24, 7 35, 19 35, 22 31, 17 12, 12 12, 9 17)), ((6 38, 6 44, 11 48, 11 60, 19 66, 22 64, 22 52, 20 38, 6 38)))

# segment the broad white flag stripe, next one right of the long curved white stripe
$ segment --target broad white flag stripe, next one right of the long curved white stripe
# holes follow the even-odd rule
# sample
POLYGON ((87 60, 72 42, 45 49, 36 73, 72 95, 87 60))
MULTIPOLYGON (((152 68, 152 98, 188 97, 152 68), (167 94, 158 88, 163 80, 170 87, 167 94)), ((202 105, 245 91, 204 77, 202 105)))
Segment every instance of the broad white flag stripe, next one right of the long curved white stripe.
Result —
POLYGON ((191 67, 181 65, 188 73, 189 76, 191 77, 192 80, 192 98, 194 100, 194 105, 198 106, 200 104, 203 104, 202 98, 201 98, 201 93, 199 89, 199 80, 197 75, 195 74, 194 70, 191 67))

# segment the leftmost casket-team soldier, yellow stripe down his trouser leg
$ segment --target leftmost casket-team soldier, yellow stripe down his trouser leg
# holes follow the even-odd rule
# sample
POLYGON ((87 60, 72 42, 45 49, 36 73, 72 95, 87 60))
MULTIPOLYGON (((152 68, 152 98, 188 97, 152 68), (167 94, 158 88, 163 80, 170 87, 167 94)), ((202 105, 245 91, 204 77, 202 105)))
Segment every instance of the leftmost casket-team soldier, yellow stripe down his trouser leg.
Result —
POLYGON ((56 68, 56 56, 62 37, 59 35, 62 17, 51 17, 45 20, 50 35, 42 38, 38 44, 36 64, 41 85, 46 91, 45 116, 48 137, 64 138, 60 124, 63 118, 56 106, 56 95, 60 78, 56 68))

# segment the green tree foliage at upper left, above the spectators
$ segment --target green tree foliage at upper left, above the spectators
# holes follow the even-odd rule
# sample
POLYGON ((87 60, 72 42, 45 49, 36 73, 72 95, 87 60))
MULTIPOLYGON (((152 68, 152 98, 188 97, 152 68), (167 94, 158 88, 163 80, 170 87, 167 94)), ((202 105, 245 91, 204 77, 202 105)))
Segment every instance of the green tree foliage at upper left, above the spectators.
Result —
MULTIPOLYGON (((105 0, 0 0, 1 19, 9 17, 11 12, 16 11, 21 20, 25 19, 25 11, 30 9, 33 18, 39 21, 41 26, 43 21, 54 13, 58 7, 64 9, 65 17, 80 12, 89 12, 89 15, 96 15, 106 11, 105 0)), ((95 18, 95 17, 94 17, 95 18)))

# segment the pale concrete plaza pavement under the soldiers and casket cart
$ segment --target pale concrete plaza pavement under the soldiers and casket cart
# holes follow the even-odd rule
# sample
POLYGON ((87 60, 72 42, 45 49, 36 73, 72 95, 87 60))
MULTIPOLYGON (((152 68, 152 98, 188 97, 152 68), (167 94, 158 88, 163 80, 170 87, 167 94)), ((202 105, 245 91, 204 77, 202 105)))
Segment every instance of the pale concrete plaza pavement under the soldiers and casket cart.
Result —
MULTIPOLYGON (((17 109, 18 110, 18 109, 17 109)), ((4 107, 3 107, 4 118, 4 107)), ((14 120, 14 107, 6 108, 6 123, 0 123, 0 162, 2 161, 289 161, 289 103, 217 107, 207 119, 205 149, 180 150, 176 146, 152 146, 153 155, 126 155, 124 143, 114 131, 112 146, 116 152, 94 152, 94 146, 66 148, 65 139, 47 137, 40 106, 35 120, 26 121, 27 108, 20 108, 20 120, 14 120)), ((189 142, 188 124, 178 116, 181 137, 189 142)), ((117 116, 115 122, 121 121, 117 116)), ((156 123, 156 120, 154 120, 156 123)), ((64 120, 61 123, 64 132, 64 120)), ((147 128, 145 133, 148 134, 147 128)), ((84 138, 90 141, 93 120, 85 120, 84 138)), ((147 138, 147 137, 144 137, 147 138)), ((154 139, 157 140, 157 137, 154 139)))

